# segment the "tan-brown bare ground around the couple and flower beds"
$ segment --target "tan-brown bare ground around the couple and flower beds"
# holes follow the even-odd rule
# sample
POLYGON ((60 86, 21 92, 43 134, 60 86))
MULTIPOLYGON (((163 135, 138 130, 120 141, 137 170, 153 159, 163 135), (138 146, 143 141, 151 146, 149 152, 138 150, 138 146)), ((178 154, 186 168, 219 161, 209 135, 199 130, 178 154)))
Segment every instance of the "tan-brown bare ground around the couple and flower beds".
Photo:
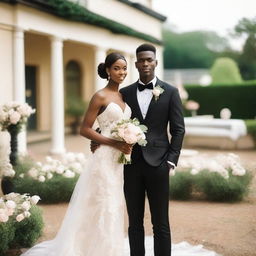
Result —
MULTIPOLYGON (((49 142, 30 144, 28 151, 42 161, 48 154, 49 142)), ((89 153, 89 142, 79 136, 66 137, 67 151, 89 153)), ((229 151, 196 149, 211 157, 229 151)), ((256 173, 256 151, 232 151, 243 164, 256 173)), ((255 175, 256 176, 256 175, 255 175)), ((67 204, 41 205, 45 221, 44 235, 40 241, 56 234, 65 214, 67 204)), ((125 216, 127 227, 127 216, 125 216)), ((170 223, 173 242, 187 241, 203 244, 223 256, 255 256, 256 251, 256 182, 249 197, 240 203, 211 203, 205 201, 170 201, 170 223)), ((152 234, 148 206, 145 213, 146 234, 152 234)))

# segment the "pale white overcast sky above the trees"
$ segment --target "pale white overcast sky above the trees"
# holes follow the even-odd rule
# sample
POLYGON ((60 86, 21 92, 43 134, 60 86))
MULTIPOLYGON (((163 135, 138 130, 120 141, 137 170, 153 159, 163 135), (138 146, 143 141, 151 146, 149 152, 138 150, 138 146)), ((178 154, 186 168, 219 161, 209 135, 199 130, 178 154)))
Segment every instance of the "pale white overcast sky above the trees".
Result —
POLYGON ((241 18, 256 16, 256 0, 153 0, 153 8, 167 16, 177 32, 211 30, 230 39, 241 50, 244 38, 229 33, 241 18))

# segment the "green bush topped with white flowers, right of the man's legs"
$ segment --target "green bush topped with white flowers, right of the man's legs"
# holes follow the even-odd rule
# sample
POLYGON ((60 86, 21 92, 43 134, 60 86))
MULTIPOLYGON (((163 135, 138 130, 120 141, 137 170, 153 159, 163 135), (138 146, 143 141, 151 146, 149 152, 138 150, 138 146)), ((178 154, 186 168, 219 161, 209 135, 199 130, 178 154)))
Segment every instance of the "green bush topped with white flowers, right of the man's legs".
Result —
POLYGON ((210 201, 241 201, 249 192, 252 174, 235 154, 181 159, 170 177, 170 198, 188 200, 196 196, 210 201))

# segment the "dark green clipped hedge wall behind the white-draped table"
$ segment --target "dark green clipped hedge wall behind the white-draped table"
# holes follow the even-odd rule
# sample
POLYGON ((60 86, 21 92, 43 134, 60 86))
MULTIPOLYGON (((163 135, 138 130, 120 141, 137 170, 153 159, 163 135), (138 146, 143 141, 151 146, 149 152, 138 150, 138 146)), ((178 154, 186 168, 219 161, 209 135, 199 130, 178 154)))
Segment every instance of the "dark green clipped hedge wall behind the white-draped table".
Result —
POLYGON ((185 85, 189 99, 200 104, 198 115, 220 117, 222 108, 229 108, 232 118, 254 119, 256 117, 256 81, 236 85, 185 85))

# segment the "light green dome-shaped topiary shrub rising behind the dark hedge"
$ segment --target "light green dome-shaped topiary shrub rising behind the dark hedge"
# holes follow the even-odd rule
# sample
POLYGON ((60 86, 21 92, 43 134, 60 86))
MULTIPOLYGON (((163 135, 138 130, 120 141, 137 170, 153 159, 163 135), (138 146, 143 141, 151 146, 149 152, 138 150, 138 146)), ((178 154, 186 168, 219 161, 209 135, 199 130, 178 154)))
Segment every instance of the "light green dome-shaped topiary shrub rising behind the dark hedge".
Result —
POLYGON ((234 60, 227 57, 217 58, 210 70, 212 84, 241 83, 242 77, 234 60))

